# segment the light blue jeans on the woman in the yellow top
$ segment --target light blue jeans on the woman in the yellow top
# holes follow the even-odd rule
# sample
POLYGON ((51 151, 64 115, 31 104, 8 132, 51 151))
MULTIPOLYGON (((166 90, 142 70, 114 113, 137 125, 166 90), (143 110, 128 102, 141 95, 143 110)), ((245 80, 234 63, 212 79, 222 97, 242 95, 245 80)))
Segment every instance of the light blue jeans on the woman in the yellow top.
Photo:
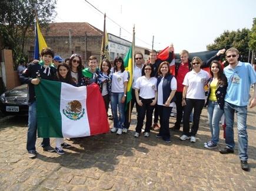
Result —
POLYGON ((207 106, 208 111, 208 120, 211 129, 211 141, 214 144, 219 142, 219 135, 220 135, 220 120, 221 116, 224 113, 224 110, 221 110, 220 105, 217 101, 210 101, 207 106))

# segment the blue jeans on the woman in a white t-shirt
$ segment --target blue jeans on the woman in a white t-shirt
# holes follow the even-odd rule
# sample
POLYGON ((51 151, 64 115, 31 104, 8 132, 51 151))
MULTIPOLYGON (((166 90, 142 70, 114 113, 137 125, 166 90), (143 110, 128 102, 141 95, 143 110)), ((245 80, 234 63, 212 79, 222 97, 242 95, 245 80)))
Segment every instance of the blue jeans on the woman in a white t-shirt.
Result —
POLYGON ((111 93, 111 110, 114 120, 114 127, 115 128, 124 128, 124 121, 125 121, 125 112, 124 107, 125 103, 121 103, 122 97, 124 93, 111 93), (117 115, 117 107, 119 111, 119 118, 117 115))

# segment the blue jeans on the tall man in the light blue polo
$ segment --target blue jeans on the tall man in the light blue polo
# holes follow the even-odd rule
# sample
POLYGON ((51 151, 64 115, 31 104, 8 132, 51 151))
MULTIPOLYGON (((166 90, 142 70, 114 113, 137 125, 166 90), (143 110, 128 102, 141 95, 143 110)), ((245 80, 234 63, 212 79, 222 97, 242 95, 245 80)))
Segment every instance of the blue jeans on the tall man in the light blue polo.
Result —
POLYGON ((248 147, 248 135, 247 135, 247 105, 237 106, 225 101, 224 114, 226 122, 226 145, 227 148, 234 150, 234 114, 237 114, 237 129, 238 129, 238 153, 239 158, 242 161, 247 161, 247 147, 248 147))

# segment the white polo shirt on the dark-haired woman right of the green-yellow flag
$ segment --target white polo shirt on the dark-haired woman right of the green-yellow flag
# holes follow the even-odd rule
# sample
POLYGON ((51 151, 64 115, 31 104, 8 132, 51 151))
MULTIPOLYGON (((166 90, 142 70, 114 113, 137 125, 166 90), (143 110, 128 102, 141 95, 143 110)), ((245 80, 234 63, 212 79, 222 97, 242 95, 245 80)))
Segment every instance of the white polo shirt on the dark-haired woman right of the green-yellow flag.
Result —
POLYGON ((139 90, 140 97, 144 99, 154 98, 155 91, 157 91, 157 78, 147 79, 145 76, 141 76, 136 80, 135 88, 139 90))

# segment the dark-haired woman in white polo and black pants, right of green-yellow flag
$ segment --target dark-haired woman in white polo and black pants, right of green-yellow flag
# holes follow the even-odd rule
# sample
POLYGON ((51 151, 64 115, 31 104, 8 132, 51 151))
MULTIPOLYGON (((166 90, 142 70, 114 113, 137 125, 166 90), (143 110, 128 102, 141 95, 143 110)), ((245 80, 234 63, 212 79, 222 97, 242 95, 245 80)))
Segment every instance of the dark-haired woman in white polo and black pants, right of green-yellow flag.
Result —
POLYGON ((138 121, 134 137, 139 137, 143 126, 145 114, 147 113, 146 127, 144 136, 149 137, 152 125, 152 113, 154 105, 157 103, 157 78, 154 77, 154 68, 152 64, 144 64, 142 67, 142 76, 135 82, 135 97, 138 107, 138 121))

